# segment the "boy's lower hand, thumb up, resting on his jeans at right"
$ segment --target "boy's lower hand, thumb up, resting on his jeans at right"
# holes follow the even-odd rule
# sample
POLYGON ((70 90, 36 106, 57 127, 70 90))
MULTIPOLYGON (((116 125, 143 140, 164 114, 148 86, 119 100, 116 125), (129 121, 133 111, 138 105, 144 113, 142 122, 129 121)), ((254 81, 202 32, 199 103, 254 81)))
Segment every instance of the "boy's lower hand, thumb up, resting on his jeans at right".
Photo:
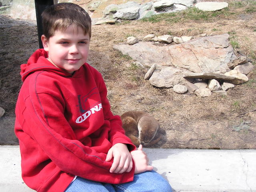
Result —
POLYGON ((153 166, 148 165, 148 156, 144 151, 142 151, 142 145, 138 147, 138 150, 132 151, 131 154, 135 163, 134 174, 151 171, 153 169, 153 166))

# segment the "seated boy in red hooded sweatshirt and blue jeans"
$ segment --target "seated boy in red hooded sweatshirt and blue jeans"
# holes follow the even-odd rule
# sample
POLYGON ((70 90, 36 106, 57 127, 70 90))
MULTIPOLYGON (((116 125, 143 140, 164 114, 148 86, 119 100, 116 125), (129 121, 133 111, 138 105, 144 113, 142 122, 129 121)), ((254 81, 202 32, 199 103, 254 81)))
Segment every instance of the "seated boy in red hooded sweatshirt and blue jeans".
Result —
POLYGON ((44 49, 21 65, 16 105, 24 182, 38 192, 171 191, 125 136, 101 74, 86 63, 90 16, 60 3, 42 19, 44 49))

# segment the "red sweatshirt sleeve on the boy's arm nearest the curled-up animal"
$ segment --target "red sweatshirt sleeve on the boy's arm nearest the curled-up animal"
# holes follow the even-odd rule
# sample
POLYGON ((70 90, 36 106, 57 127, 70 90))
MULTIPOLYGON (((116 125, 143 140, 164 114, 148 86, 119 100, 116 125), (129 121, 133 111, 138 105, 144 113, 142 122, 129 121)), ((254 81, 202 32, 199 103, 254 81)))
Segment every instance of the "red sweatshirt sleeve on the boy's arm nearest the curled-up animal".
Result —
MULTIPOLYGON (((100 75, 101 76, 101 75, 100 75)), ((132 143, 130 138, 125 135, 125 131, 122 128, 122 120, 120 116, 113 115, 110 110, 110 104, 107 99, 107 89, 106 84, 101 76, 101 82, 99 86, 100 96, 102 100, 102 108, 104 109, 104 117, 110 122, 109 140, 112 145, 116 143, 127 144, 128 150, 132 151, 136 149, 136 146, 132 143)))

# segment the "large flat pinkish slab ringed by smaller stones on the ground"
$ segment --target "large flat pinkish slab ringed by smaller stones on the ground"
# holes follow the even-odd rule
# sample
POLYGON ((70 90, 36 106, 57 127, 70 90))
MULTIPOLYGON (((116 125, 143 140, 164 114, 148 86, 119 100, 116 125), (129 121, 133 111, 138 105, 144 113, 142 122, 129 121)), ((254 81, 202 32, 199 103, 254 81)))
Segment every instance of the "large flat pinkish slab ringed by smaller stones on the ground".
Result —
POLYGON ((153 86, 200 97, 212 92, 225 96, 229 88, 247 82, 246 75, 254 68, 246 57, 234 54, 228 38, 228 34, 195 37, 149 34, 143 42, 129 37, 128 45, 114 45, 114 49, 128 54, 139 65, 150 67, 144 79, 153 86), (163 43, 165 46, 158 46, 163 43))

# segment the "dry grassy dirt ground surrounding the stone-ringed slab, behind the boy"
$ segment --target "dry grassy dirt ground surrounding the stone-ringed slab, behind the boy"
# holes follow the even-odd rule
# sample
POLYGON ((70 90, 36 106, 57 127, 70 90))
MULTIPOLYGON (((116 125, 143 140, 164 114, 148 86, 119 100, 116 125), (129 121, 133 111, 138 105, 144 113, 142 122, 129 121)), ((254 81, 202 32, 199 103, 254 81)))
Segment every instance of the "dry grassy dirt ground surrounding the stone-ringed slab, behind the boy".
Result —
MULTIPOLYGON (((227 1, 228 2, 228 1, 227 1)), ((232 8, 230 8, 232 9, 232 8)), ((166 131, 166 138, 156 147, 203 149, 256 149, 256 70, 248 74, 249 82, 227 91, 227 96, 213 94, 198 98, 156 88, 144 80, 148 68, 113 49, 126 44, 128 36, 142 39, 157 36, 217 35, 229 33, 237 40, 238 55, 246 55, 255 65, 256 12, 233 8, 233 16, 210 21, 168 22, 129 21, 118 25, 92 26, 88 62, 98 69, 106 81, 108 98, 114 114, 142 110, 152 114, 166 131)), ((0 17, 0 106, 6 110, 2 118, 15 117, 14 108, 20 86, 20 64, 38 48, 35 25, 0 17), (18 23, 18 25, 14 25, 18 23), (13 26, 12 26, 13 24, 13 26)), ((6 120, 6 125, 12 124, 6 120)))

